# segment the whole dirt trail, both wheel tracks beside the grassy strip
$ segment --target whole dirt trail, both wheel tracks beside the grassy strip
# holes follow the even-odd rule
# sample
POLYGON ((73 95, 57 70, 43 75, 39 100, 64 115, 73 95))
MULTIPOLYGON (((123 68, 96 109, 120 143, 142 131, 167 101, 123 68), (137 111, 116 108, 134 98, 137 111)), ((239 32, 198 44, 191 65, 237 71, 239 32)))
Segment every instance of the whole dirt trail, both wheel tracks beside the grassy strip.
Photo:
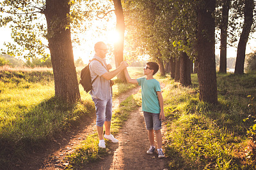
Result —
MULTIPOLYGON (((140 87, 122 94, 113 100, 113 110, 118 108, 131 94, 135 94, 140 87)), ((68 153, 83 141, 88 134, 95 132, 95 114, 88 118, 87 123, 82 123, 72 132, 67 132, 61 138, 54 139, 49 148, 42 152, 29 155, 29 161, 17 166, 17 169, 64 169, 68 164, 64 158, 68 153)), ((162 129, 164 134, 164 127, 162 129)), ((131 113, 131 117, 116 136, 119 143, 111 143, 107 146, 109 155, 97 162, 86 164, 83 169, 164 169, 168 168, 168 158, 158 159, 157 153, 148 155, 149 143, 143 112, 141 108, 131 113)), ((164 138, 164 136, 163 136, 164 138)))

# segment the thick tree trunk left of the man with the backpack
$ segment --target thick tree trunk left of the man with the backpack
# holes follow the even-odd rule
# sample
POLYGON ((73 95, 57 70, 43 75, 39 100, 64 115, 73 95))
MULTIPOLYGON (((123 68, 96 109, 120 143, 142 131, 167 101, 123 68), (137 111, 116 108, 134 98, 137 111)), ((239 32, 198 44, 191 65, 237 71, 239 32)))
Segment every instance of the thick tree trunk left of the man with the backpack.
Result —
POLYGON ((80 100, 76 67, 70 36, 68 1, 46 1, 47 39, 51 52, 55 96, 68 103, 80 100))

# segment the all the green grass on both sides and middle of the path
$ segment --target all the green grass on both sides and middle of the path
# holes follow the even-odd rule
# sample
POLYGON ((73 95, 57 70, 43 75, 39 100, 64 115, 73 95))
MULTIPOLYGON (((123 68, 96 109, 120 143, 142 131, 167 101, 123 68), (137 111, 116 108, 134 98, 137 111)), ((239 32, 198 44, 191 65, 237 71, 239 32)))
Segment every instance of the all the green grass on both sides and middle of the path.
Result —
MULTIPOLYGON (((132 78, 143 76, 142 71, 142 67, 129 68, 132 78)), ((24 154, 44 146, 56 134, 72 128, 94 111, 92 99, 81 85, 82 103, 70 105, 54 98, 51 70, 1 71, 0 76, 0 164, 3 167, 22 160, 24 154)), ((170 169, 255 169, 255 150, 249 144, 255 139, 256 74, 217 74, 217 78, 218 104, 213 105, 199 101, 196 74, 191 74, 191 87, 180 86, 168 74, 156 75, 165 84, 162 89, 167 127, 164 151, 172 158, 170 169)), ((114 81, 114 97, 135 87, 114 81)), ((140 95, 131 96, 115 111, 114 134, 122 127, 129 111, 140 106, 140 101, 140 95)), ((76 167, 102 154, 97 147, 97 136, 92 135, 67 159, 76 167), (83 160, 80 153, 90 154, 83 160)))

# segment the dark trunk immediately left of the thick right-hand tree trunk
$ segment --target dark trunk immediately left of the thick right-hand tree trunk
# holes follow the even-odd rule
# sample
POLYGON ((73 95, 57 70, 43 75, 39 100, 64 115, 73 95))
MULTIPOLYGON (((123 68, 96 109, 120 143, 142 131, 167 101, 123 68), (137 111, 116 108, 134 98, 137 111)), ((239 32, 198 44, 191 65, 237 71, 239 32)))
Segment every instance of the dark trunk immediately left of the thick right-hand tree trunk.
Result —
POLYGON ((184 86, 191 85, 190 62, 186 52, 180 54, 180 83, 184 86))

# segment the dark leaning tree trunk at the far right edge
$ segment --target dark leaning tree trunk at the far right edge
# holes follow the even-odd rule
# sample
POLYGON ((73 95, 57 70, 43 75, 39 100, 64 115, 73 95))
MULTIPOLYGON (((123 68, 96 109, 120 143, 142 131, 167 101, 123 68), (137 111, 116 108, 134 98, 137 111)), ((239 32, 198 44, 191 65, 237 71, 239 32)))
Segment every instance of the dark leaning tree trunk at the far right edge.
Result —
POLYGON ((245 59, 245 50, 248 37, 251 31, 253 23, 253 9, 254 9, 253 0, 245 0, 244 6, 244 25, 243 31, 241 33, 239 43, 237 46, 237 56, 236 56, 236 67, 235 74, 244 73, 244 59, 245 59))

